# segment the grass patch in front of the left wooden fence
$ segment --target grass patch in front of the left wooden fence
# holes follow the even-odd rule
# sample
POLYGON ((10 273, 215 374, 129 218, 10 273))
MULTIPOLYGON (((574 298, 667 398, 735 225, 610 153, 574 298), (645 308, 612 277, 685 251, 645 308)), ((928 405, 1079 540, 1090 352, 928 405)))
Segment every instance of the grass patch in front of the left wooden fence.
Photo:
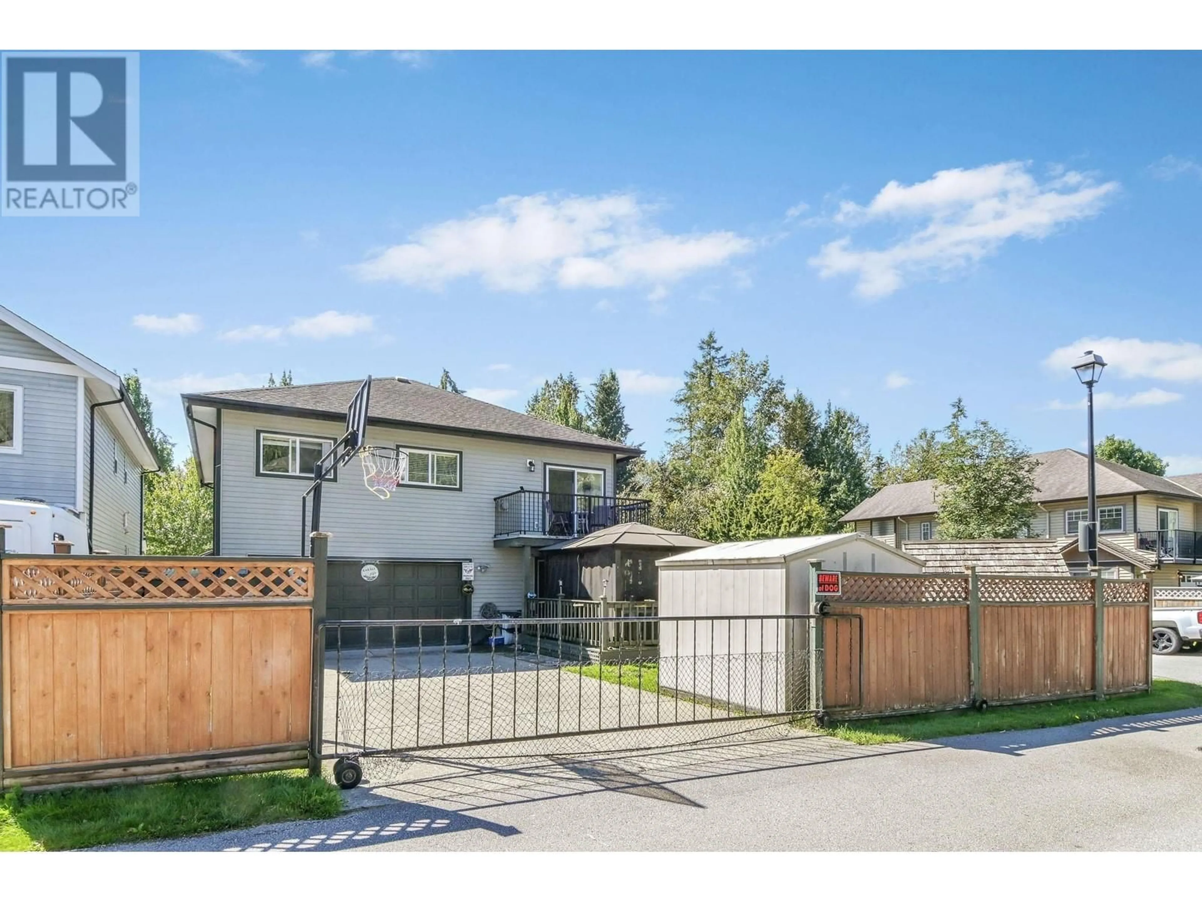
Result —
POLYGON ((335 787, 304 771, 150 785, 10 791, 0 796, 0 851, 82 849, 166 839, 279 820, 332 818, 335 787))

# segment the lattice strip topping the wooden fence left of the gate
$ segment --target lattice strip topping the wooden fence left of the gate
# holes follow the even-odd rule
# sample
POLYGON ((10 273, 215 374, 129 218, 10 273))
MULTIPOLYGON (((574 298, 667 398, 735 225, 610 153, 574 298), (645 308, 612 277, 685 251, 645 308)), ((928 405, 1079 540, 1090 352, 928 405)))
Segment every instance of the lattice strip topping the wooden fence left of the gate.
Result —
POLYGON ((4 598, 35 601, 305 600, 313 564, 304 560, 4 559, 4 598))

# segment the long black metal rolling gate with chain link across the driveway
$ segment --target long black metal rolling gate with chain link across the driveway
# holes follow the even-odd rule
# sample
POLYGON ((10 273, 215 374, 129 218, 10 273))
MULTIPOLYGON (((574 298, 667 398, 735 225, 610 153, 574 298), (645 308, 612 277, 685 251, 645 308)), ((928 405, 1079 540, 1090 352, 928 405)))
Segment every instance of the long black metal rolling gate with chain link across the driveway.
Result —
MULTIPOLYGON (((517 742, 537 754, 563 737, 666 748, 787 725, 823 707, 834 658, 822 622, 837 619, 858 618, 329 621, 321 758, 350 788, 364 761, 421 752, 517 742)), ((858 673, 835 678, 858 694, 858 673)))

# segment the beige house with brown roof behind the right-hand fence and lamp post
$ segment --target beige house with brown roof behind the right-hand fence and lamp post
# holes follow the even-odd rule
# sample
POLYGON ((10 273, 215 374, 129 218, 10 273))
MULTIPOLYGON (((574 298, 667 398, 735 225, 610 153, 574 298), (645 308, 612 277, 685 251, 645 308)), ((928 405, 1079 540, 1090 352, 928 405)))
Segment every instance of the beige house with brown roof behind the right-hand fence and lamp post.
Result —
MULTIPOLYGON (((1087 560, 1077 551, 1077 524, 1087 517, 1088 458, 1071 449, 1033 457, 1040 465, 1035 471, 1035 518, 1027 538, 1046 541, 1025 548, 1045 557, 1055 547, 1066 572, 1084 574, 1087 560)), ((1155 476, 1099 459, 1096 480, 1099 564, 1108 575, 1150 571, 1153 581, 1162 586, 1202 581, 1202 474, 1155 476)), ((1022 557, 1018 550, 1024 547, 1011 546, 1004 552, 1001 546, 941 542, 935 480, 885 486, 840 522, 930 560, 975 563, 966 554, 977 550, 992 558, 1008 556, 1017 564, 1022 557)))

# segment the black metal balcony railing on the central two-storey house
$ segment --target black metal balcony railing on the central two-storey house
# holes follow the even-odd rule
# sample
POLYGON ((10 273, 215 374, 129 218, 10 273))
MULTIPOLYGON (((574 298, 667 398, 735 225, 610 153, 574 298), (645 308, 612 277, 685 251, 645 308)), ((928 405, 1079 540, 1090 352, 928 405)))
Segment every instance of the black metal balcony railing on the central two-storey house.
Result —
POLYGON ((587 535, 618 523, 650 523, 651 503, 644 498, 563 494, 518 489, 494 499, 498 539, 511 535, 569 538, 587 535))

